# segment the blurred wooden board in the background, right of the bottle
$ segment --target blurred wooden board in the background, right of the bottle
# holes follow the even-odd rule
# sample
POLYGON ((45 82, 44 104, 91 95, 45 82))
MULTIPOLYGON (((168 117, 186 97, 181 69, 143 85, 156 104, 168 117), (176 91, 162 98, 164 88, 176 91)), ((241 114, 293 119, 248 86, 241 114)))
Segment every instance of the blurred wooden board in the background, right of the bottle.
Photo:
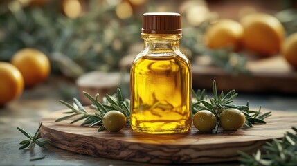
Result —
POLYGON ((278 55, 252 60, 246 68, 249 75, 231 75, 221 68, 192 65, 192 85, 197 89, 212 89, 212 82, 220 82, 223 91, 236 89, 246 92, 268 92, 297 94, 297 71, 278 55))

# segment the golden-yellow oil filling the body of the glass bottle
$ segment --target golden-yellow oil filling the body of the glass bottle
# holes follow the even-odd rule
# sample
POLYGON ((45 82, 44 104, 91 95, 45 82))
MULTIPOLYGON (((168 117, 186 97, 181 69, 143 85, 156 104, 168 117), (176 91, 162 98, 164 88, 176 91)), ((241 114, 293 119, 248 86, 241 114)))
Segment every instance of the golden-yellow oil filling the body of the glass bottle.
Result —
POLYGON ((179 56, 141 57, 132 67, 132 129, 180 133, 190 128, 190 70, 179 56))

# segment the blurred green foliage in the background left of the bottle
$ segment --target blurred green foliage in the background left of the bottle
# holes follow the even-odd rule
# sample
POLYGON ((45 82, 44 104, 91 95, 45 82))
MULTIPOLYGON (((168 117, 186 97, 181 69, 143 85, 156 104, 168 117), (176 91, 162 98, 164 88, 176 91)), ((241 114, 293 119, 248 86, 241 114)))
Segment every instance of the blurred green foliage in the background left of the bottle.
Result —
POLYGON ((77 77, 84 71, 115 70, 137 40, 140 21, 116 17, 115 4, 89 1, 86 12, 71 18, 60 1, 44 3, 22 6, 10 1, 1 6, 1 60, 8 61, 20 48, 37 48, 51 59, 55 72, 77 77))

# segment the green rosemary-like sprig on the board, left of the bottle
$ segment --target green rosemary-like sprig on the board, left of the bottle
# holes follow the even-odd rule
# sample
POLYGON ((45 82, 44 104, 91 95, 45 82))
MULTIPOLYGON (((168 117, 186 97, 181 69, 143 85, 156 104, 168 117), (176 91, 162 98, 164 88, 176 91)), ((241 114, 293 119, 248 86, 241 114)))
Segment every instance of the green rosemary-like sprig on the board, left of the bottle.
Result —
POLYGON ((73 124, 80 120, 84 120, 84 122, 82 122, 82 124, 80 124, 80 125, 83 126, 83 125, 89 124, 89 127, 98 125, 98 126, 100 126, 98 128, 98 131, 103 131, 103 130, 105 130, 105 127, 102 126, 103 116, 105 116, 105 113, 107 113, 111 110, 120 111, 128 119, 127 122, 129 122, 130 100, 123 98, 123 95, 122 95, 120 89, 117 89, 117 93, 115 95, 107 94, 105 96, 105 98, 103 98, 102 103, 98 101, 98 97, 99 97, 98 93, 95 95, 95 97, 92 97, 87 92, 83 92, 83 93, 93 103, 90 108, 93 109, 94 111, 88 112, 87 109, 85 109, 76 98, 73 98, 73 104, 69 104, 67 102, 64 102, 63 100, 59 100, 59 102, 61 102, 66 107, 71 109, 71 111, 63 112, 65 114, 70 114, 70 115, 59 118, 59 119, 55 120, 55 122, 67 120, 67 119, 73 118, 75 116, 80 116, 79 118, 75 118, 72 122, 70 122, 70 124, 73 124))

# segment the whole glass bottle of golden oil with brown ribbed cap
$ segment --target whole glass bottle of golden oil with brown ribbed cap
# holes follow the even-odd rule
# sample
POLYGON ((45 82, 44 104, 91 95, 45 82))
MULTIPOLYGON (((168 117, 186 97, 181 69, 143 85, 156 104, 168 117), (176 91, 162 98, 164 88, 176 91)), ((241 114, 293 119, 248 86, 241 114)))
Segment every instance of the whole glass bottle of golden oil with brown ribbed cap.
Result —
POLYGON ((131 69, 131 127, 143 133, 182 133, 191 126, 192 73, 179 50, 181 15, 143 14, 144 49, 131 69))

